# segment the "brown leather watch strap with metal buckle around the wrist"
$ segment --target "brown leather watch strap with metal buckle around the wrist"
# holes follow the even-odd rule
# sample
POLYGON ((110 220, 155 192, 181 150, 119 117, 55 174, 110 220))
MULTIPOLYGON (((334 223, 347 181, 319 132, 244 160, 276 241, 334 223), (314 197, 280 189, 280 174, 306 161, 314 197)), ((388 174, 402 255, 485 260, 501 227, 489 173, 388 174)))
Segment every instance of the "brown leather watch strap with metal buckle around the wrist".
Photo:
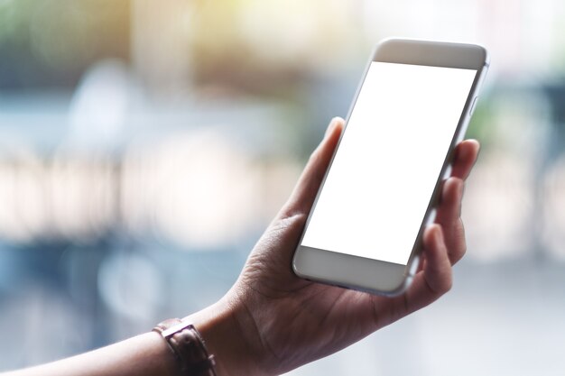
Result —
POLYGON ((214 355, 208 355, 204 340, 189 322, 170 318, 153 328, 167 341, 183 376, 216 376, 214 355))

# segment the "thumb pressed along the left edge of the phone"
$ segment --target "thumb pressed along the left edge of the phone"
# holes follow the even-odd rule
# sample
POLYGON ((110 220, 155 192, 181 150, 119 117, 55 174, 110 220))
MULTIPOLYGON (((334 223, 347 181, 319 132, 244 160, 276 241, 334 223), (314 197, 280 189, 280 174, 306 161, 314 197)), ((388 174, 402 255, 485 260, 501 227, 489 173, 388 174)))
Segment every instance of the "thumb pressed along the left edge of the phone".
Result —
POLYGON ((298 180, 291 197, 282 208, 282 216, 308 214, 310 212, 321 181, 324 179, 326 170, 328 170, 329 160, 331 160, 331 156, 338 144, 343 126, 344 120, 339 117, 335 117, 329 123, 324 139, 311 154, 310 160, 308 160, 306 167, 302 171, 301 178, 298 180))

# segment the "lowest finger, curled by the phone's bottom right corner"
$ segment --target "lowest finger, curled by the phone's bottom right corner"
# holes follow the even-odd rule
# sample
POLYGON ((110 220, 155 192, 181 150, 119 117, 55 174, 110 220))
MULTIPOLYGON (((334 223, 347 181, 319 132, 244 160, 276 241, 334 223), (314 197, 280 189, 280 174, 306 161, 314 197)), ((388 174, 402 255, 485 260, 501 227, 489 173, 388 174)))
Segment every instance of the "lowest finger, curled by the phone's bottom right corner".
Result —
POLYGON ((424 265, 405 293, 407 313, 429 305, 451 289, 448 249, 440 225, 431 225, 423 236, 424 265))

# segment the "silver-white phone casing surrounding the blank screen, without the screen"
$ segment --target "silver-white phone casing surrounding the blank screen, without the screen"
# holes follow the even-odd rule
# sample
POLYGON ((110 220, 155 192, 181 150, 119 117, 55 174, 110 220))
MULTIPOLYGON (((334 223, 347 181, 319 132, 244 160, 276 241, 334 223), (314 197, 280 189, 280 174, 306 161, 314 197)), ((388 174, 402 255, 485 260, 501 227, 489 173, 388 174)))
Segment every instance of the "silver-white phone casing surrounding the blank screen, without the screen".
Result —
POLYGON ((302 229, 299 245, 292 259, 292 270, 294 273, 307 280, 313 280, 346 289, 357 289, 377 295, 395 296, 403 292, 410 283, 418 269, 421 252, 421 236, 427 225, 431 225, 435 219, 435 206, 440 196, 441 182, 449 178, 450 163, 453 151, 458 142, 463 140, 468 124, 475 108, 479 89, 486 77, 489 67, 489 56, 487 50, 477 44, 452 43, 444 41, 419 41, 412 39, 391 38, 381 41, 375 48, 372 59, 367 63, 361 82, 357 87, 355 99, 347 113, 346 125, 341 133, 338 145, 329 162, 328 170, 321 182, 316 199, 310 209, 310 214, 302 229), (412 247, 410 258, 406 265, 392 262, 379 261, 346 253, 320 250, 316 248, 301 246, 302 238, 308 225, 314 207, 318 203, 320 192, 324 187, 333 159, 339 149, 343 134, 347 131, 349 117, 357 103, 361 87, 366 79, 366 74, 373 61, 392 62, 400 64, 425 65, 432 67, 477 69, 477 75, 469 94, 463 111, 459 118, 449 151, 446 154, 436 186, 431 195, 428 208, 421 221, 421 227, 412 247))

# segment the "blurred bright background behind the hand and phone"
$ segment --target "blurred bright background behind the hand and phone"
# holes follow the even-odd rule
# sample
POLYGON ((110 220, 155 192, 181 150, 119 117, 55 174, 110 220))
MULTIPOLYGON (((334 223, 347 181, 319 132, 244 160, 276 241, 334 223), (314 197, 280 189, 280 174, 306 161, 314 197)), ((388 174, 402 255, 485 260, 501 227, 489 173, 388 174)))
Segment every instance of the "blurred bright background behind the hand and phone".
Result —
POLYGON ((291 374, 562 374, 564 21, 560 0, 0 0, 0 371, 220 298, 403 36, 491 52, 468 255, 438 303, 291 374))

